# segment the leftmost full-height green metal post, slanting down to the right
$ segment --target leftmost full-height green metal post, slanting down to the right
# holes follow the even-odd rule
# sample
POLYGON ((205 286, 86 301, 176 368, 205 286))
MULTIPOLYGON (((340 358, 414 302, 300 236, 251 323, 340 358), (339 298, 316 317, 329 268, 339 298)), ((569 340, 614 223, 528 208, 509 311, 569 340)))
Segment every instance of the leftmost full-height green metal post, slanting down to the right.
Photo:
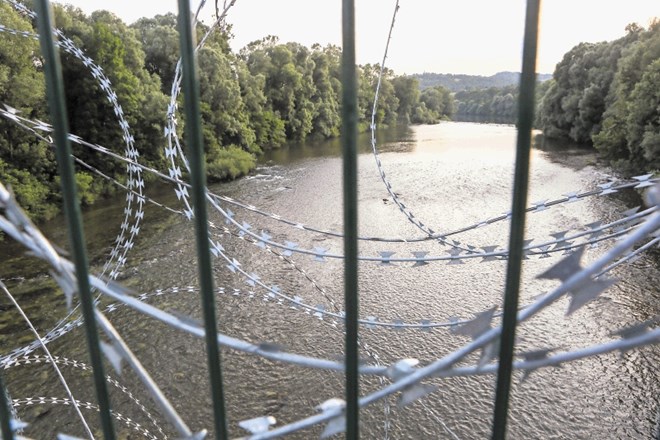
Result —
POLYGON ((76 190, 75 171, 71 159, 71 145, 69 143, 69 122, 67 119, 64 81, 62 80, 62 66, 59 54, 53 40, 50 4, 48 0, 36 0, 37 25, 39 29, 39 43, 44 57, 44 71, 46 74, 46 90, 48 92, 48 107, 55 130, 55 144, 57 145, 57 165, 62 182, 62 198, 64 199, 64 214, 68 225, 69 241, 73 253, 78 280, 78 294, 83 318, 89 357, 94 370, 94 384, 96 386, 96 399, 101 413, 103 435, 106 439, 114 439, 115 433, 110 414, 110 397, 108 395, 99 335, 96 329, 94 316, 94 299, 89 286, 89 273, 85 237, 82 228, 80 205, 76 190))

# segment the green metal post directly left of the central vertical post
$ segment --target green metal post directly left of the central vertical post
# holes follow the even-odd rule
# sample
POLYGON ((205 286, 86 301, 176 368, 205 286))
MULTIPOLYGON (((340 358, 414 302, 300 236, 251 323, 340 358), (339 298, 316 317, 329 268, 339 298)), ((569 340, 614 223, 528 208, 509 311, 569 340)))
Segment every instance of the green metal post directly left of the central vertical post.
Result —
POLYGON ((215 317, 215 295, 213 292, 213 268, 209 249, 208 217, 206 212, 206 166, 199 104, 199 81, 195 61, 190 1, 179 0, 179 40, 183 68, 183 97, 186 112, 186 144, 190 160, 190 180, 195 210, 197 235, 197 262, 199 283, 206 331, 206 351, 211 379, 211 397, 216 438, 228 438, 225 399, 220 368, 220 349, 215 317))

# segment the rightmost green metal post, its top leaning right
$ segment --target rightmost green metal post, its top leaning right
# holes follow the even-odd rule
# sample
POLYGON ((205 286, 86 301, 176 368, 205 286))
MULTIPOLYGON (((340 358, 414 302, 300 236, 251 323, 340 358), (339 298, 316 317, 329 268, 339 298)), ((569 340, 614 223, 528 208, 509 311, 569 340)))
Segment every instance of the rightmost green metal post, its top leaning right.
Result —
POLYGON ((518 142, 513 183, 509 262, 504 290, 504 314, 500 341, 500 364, 497 370, 493 440, 506 437, 506 422, 511 389, 511 364, 518 314, 518 293, 522 271, 525 208, 529 186, 529 156, 534 123, 534 87, 536 85, 536 48, 538 41, 540 0, 528 0, 525 17, 522 74, 518 98, 518 142))

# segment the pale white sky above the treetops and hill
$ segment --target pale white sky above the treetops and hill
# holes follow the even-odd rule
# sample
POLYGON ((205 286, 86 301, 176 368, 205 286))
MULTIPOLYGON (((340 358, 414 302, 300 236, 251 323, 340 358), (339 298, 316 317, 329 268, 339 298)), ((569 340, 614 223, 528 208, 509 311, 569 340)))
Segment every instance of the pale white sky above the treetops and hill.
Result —
MULTIPOLYGON (((127 23, 177 10, 175 0, 60 3, 87 13, 107 9, 127 23)), ((396 0, 355 3, 357 61, 380 63, 396 0)), ((396 74, 492 75, 521 70, 524 0, 399 0, 399 6, 385 62, 396 74)), ((204 11, 202 19, 210 24, 213 0, 207 1, 204 11)), ((654 17, 660 17, 658 0, 542 1, 537 71, 552 73, 564 53, 580 42, 614 40, 625 34, 627 24, 648 27, 654 17)), ((341 45, 340 0, 236 0, 227 21, 233 25, 235 50, 266 35, 307 46, 341 45)))

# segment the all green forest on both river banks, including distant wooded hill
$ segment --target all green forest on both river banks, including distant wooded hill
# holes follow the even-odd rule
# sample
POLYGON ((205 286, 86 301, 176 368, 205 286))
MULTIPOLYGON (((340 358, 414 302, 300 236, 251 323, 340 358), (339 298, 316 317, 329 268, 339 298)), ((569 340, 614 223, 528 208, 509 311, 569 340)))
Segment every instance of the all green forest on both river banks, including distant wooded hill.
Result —
MULTIPOLYGON (((164 169, 163 128, 179 56, 176 16, 128 25, 107 11, 86 15, 55 5, 54 13, 58 28, 112 83, 140 162, 164 169)), ((0 25, 36 33, 36 24, 6 3, 0 4, 0 25)), ((207 29, 200 24, 198 37, 207 29)), ((198 52, 209 181, 249 173, 263 151, 287 141, 339 136, 339 47, 306 47, 268 36, 234 52, 231 38, 231 26, 225 25, 198 52)), ((62 63, 71 133, 121 152, 122 129, 89 66, 65 52, 62 63)), ((36 39, 2 32, 0 105, 48 121, 42 66, 36 39)), ((380 70, 378 64, 358 66, 362 131, 371 124, 380 70)), ((405 76, 386 68, 375 122, 379 127, 432 124, 454 114, 511 118, 517 112, 518 78, 513 72, 405 76)), ((593 145, 624 174, 660 169, 660 23, 648 29, 631 24, 612 42, 580 43, 546 78, 538 76, 536 120, 546 137, 593 145)), ((61 200, 52 147, 12 121, 0 119, 0 130, 0 181, 11 186, 33 219, 53 217, 61 200)), ((119 161, 80 145, 74 145, 74 154, 110 178, 121 181, 126 174, 119 161)), ((77 170, 76 179, 83 205, 117 190, 86 168, 77 170)))

